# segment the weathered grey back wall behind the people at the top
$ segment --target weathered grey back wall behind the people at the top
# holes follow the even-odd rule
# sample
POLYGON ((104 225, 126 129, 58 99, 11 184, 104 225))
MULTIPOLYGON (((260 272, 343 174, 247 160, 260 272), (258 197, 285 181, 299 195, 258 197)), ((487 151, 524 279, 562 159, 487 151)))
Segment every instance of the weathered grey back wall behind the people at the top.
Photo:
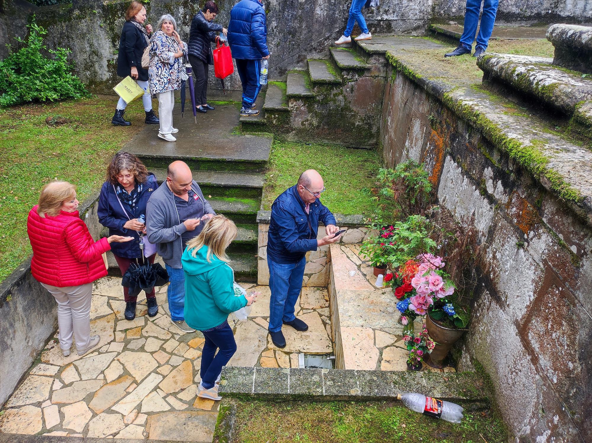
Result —
MULTIPOLYGON (((236 0, 218 0, 217 23, 227 24, 236 0)), ((24 37, 27 16, 37 15, 38 23, 49 31, 48 47, 70 47, 79 76, 96 94, 112 94, 120 79, 115 75, 118 42, 128 1, 75 0, 72 4, 36 8, 24 0, 0 2, 0 57, 7 54, 5 43, 24 37)), ((161 14, 173 14, 179 33, 186 40, 191 18, 203 2, 193 0, 152 0, 148 21, 156 24, 161 14)), ((350 0, 268 0, 268 39, 271 49, 271 76, 288 69, 304 67, 307 58, 327 56, 331 41, 343 32, 350 0)), ((382 2, 378 9, 365 9, 364 15, 374 33, 423 34, 430 20, 462 18, 464 0, 395 0, 382 2)), ((509 0, 501 2, 498 18, 511 21, 586 21, 592 17, 592 4, 585 0, 509 0)), ((356 31, 355 31, 356 32, 356 31)), ((238 76, 225 81, 226 88, 240 89, 238 76)), ((210 87, 220 88, 210 69, 210 87)))

